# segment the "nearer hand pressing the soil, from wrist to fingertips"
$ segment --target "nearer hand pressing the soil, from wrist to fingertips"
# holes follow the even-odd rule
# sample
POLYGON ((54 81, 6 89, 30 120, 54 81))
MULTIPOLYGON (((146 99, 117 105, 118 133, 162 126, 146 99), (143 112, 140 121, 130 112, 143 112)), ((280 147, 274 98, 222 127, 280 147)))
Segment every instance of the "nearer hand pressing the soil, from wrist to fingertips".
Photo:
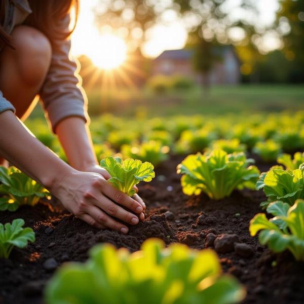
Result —
POLYGON ((144 219, 142 205, 113 187, 98 173, 72 170, 61 182, 54 184, 50 192, 68 211, 99 229, 108 227, 127 234, 128 227, 113 217, 132 225, 138 223, 139 219, 135 214, 117 204, 144 219))

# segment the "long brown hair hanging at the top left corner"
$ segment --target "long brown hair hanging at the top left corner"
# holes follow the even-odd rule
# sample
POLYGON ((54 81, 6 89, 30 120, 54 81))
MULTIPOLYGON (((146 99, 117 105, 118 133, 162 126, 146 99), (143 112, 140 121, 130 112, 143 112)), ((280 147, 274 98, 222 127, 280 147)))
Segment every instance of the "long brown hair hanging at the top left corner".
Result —
MULTIPOLYGON (((79 13, 79 0, 29 0, 32 13, 26 18, 25 24, 35 27, 43 32, 50 40, 53 37, 66 39, 74 30, 79 13), (75 10, 75 22, 71 31, 60 32, 57 29, 58 22, 70 13, 71 9, 75 10)), ((10 35, 3 30, 5 21, 5 12, 8 1, 0 1, 0 48, 4 45, 12 46, 10 35)))

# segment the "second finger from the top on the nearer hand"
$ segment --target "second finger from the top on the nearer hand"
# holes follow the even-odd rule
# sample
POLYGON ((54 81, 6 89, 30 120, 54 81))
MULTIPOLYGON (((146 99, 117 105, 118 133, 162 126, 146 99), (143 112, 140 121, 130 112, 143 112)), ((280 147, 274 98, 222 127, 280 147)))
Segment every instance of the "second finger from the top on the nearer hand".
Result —
MULTIPOLYGON (((92 204, 102 209, 108 215, 119 218, 126 223, 136 225, 139 222, 136 215, 113 203, 101 193, 92 200, 92 204)), ((89 213, 88 210, 87 212, 89 213)))

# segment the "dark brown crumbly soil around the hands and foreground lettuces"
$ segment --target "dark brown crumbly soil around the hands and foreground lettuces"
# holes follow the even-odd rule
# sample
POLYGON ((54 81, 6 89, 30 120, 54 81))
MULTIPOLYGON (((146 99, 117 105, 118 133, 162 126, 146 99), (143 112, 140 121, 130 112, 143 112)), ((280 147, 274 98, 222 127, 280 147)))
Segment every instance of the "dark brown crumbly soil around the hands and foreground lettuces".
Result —
MULTIPOLYGON (((206 195, 187 197, 181 191, 180 176, 175 174, 181 160, 172 157, 156 170, 153 181, 139 186, 147 206, 146 219, 132 226, 128 235, 95 229, 56 201, 24 206, 14 213, 0 212, 2 223, 23 218, 25 226, 36 234, 35 243, 14 249, 9 260, 0 259, 0 303, 43 303, 43 288, 54 270, 65 261, 85 261, 96 243, 136 251, 145 239, 157 237, 166 244, 181 242, 202 249, 213 248, 214 238, 220 234, 236 235, 227 241, 245 244, 236 248, 238 254, 230 244, 218 249, 226 252, 218 253, 223 271, 236 276, 247 289, 243 303, 304 303, 304 263, 296 262, 288 252, 272 253, 249 235, 249 221, 261 212, 263 193, 236 191, 220 201, 206 195)), ((261 171, 270 167, 260 162, 257 165, 261 171)))

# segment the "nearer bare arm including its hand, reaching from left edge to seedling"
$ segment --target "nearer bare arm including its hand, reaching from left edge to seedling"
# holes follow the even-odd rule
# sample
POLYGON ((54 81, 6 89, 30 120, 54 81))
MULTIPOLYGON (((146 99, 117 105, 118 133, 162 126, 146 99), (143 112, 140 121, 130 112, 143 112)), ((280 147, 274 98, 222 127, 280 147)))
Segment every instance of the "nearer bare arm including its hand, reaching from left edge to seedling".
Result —
POLYGON ((0 154, 87 223, 127 233, 127 226, 112 217, 130 224, 137 224, 138 218, 114 202, 143 216, 137 201, 111 186, 100 174, 80 172, 60 160, 28 133, 12 111, 0 113, 0 126, 0 154))

